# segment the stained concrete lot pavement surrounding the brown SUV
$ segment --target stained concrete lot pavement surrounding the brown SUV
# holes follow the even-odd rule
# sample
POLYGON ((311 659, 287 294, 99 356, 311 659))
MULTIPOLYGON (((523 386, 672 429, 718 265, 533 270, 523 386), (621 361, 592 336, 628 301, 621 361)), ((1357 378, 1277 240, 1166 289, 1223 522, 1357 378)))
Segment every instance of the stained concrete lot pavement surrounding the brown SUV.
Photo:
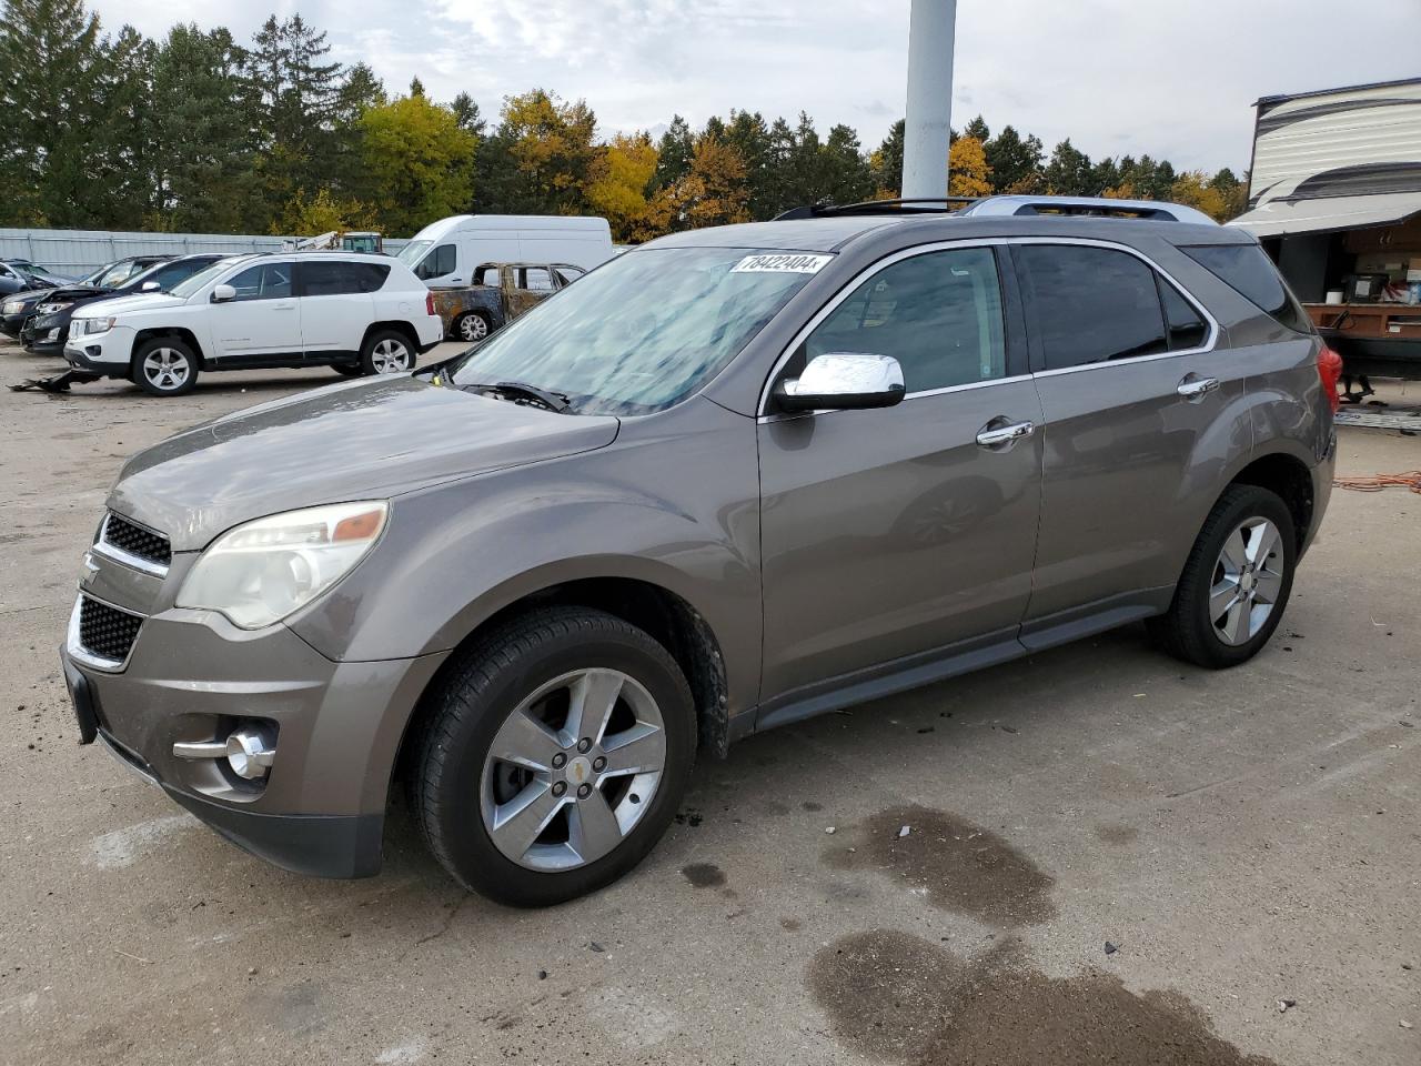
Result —
MULTIPOLYGON (((307 880, 75 745, 55 650, 122 458, 334 379, 0 391, 0 1062, 1421 1062, 1421 497, 1334 492, 1242 668, 1130 627, 750 739, 631 877, 519 912, 402 810, 379 877, 307 880)), ((1343 429, 1340 468, 1421 436, 1343 429)))

